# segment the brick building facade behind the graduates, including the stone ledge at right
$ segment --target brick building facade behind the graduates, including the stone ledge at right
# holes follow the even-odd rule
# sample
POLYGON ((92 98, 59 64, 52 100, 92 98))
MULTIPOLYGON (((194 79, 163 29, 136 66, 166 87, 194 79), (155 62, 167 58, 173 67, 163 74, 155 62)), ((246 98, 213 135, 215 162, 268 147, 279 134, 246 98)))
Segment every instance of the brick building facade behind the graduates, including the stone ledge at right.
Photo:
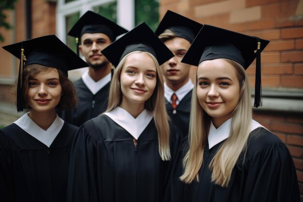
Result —
MULTIPOLYGON (((26 39, 25 2, 19 0, 15 11, 7 12, 14 29, 0 29, 6 39, 1 47, 26 39)), ((31 37, 58 32, 56 6, 56 0, 31 0, 31 37)), ((287 144, 303 194, 303 0, 160 0, 160 18, 168 9, 271 41, 261 54, 263 107, 254 109, 254 118, 287 144)), ((0 61, 7 67, 0 68, 0 101, 12 102, 7 92, 17 61, 2 49, 0 61)), ((247 73, 254 86, 254 63, 247 73)))

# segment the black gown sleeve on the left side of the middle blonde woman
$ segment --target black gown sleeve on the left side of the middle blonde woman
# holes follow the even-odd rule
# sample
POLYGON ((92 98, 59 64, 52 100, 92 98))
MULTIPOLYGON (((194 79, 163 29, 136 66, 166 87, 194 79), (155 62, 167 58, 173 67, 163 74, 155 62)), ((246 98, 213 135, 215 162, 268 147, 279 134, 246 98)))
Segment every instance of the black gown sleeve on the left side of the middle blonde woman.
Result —
POLYGON ((98 185, 100 181, 96 166, 96 137, 96 129, 91 120, 79 127, 71 150, 67 202, 102 201, 102 187, 98 185))

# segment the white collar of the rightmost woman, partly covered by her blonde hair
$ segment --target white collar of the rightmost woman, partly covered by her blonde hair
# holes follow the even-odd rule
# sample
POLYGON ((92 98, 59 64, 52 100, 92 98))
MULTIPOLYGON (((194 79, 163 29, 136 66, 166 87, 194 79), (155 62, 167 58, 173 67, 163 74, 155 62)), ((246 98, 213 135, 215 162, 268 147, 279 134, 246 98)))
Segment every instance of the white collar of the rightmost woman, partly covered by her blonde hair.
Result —
MULTIPOLYGON (((222 142, 223 140, 226 140, 229 137, 230 127, 231 127, 231 118, 228 119, 226 122, 224 122, 222 125, 220 125, 220 127, 218 128, 215 128, 211 122, 210 132, 208 134, 209 149, 211 149, 213 146, 222 142)), ((258 127, 264 127, 264 126, 259 124, 255 120, 252 120, 250 125, 250 132, 252 132, 258 127)))

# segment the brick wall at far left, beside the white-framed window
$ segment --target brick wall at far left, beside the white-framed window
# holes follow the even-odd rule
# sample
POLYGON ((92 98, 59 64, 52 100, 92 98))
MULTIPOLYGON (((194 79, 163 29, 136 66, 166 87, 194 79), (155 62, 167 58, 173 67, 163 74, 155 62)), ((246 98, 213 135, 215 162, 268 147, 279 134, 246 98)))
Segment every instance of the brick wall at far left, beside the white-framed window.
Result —
MULTIPOLYGON (((25 0, 18 0, 15 3, 15 11, 6 11, 7 20, 12 25, 10 31, 0 29, 1 34, 5 37, 5 41, 0 46, 20 42, 26 40, 26 10, 25 0), (15 15, 15 16, 13 16, 15 15), (11 19, 14 19, 13 21, 11 19)), ((31 38, 56 33, 56 3, 46 0, 31 0, 31 38)), ((0 78, 14 78, 17 75, 19 61, 10 53, 0 48, 0 61, 3 67, 0 70, 0 78), (15 64, 13 62, 15 60, 15 64), (11 68, 15 65, 15 69, 11 68), (15 71, 15 72, 13 72, 15 71)), ((13 103, 11 94, 8 93, 9 85, 0 85, 0 101, 13 103)))

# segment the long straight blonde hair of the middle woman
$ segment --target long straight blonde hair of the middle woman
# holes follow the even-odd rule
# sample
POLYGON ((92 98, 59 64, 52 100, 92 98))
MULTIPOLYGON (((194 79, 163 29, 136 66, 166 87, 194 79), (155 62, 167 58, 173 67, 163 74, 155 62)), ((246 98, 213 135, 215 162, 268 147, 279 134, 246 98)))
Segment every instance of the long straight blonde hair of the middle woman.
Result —
POLYGON ((122 92, 121 92, 121 84, 120 84, 121 70, 123 64, 125 63, 126 58, 134 53, 146 53, 150 55, 156 66, 157 84, 155 90, 152 93, 152 96, 145 102, 145 109, 151 110, 153 112, 153 119, 158 132, 159 154, 162 160, 170 160, 169 124, 168 124, 168 115, 165 107, 163 78, 161 76, 162 73, 159 67, 159 63, 151 53, 145 51, 133 51, 128 53, 122 58, 121 62, 117 65, 113 74, 113 78, 111 80, 109 97, 108 97, 108 106, 106 112, 115 109, 121 104, 122 101, 122 92))

